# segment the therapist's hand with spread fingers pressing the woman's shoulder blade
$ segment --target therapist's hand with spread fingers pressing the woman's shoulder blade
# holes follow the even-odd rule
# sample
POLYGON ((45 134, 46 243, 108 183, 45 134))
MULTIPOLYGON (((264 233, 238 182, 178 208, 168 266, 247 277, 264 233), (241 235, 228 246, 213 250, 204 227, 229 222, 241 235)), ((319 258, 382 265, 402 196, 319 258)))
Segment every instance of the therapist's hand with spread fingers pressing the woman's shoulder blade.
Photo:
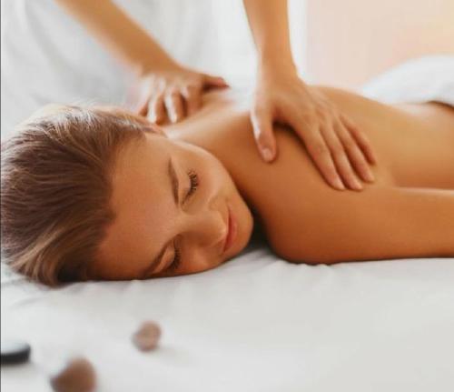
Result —
POLYGON ((374 180, 376 163, 367 137, 331 101, 306 85, 292 67, 261 67, 252 106, 252 126, 262 157, 276 154, 272 123, 291 126, 301 138, 326 182, 337 189, 360 190, 360 181, 374 180))

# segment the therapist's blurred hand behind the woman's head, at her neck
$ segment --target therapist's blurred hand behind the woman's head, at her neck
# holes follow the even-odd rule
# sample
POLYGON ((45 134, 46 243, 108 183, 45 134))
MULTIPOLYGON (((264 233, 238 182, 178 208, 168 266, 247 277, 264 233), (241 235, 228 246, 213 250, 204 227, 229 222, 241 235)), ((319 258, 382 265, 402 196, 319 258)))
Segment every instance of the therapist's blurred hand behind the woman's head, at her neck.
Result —
POLYGON ((227 87, 219 76, 206 75, 174 65, 141 78, 138 112, 157 124, 191 116, 202 104, 203 92, 227 87))

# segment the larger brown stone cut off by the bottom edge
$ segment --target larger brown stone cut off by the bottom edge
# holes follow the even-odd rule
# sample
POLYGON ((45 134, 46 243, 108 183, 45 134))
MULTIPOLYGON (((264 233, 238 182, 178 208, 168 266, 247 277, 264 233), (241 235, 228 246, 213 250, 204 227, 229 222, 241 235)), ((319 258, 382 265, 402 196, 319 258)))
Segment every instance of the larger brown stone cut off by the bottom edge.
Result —
POLYGON ((74 358, 51 377, 51 386, 55 392, 93 392, 96 387, 94 367, 83 357, 74 358))

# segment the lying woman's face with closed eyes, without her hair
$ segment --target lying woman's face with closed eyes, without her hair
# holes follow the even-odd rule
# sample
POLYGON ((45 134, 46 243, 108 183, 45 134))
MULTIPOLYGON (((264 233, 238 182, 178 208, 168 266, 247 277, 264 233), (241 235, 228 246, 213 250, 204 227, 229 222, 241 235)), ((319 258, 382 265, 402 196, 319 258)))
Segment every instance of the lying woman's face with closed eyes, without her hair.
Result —
POLYGON ((218 266, 246 246, 251 213, 221 162, 202 148, 148 133, 122 148, 113 173, 115 220, 95 276, 189 274, 218 266))

